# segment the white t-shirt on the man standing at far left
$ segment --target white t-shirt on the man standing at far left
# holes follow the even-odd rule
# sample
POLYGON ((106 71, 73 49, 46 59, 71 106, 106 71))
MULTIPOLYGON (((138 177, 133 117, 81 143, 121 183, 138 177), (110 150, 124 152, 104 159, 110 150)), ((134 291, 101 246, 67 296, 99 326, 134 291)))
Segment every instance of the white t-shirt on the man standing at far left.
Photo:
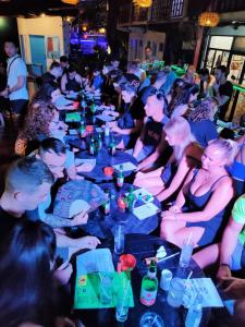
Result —
MULTIPOLYGON (((16 85, 19 76, 27 77, 26 64, 19 55, 8 59, 7 74, 9 87, 16 85)), ((28 100, 26 83, 20 89, 11 92, 10 100, 28 100)))

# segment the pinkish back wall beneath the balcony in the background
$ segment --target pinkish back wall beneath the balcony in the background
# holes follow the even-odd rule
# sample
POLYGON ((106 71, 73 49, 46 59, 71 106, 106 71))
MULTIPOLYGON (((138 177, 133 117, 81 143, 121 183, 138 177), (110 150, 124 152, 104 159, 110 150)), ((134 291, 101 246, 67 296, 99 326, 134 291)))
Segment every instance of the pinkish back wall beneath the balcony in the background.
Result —
MULTIPOLYGON (((132 28, 133 29, 133 28, 132 28)), ((130 34, 128 41, 128 61, 134 59, 144 60, 145 56, 145 47, 150 43, 150 47, 156 47, 156 59, 162 60, 164 43, 166 43, 166 34, 155 31, 147 31, 144 33, 143 28, 134 28, 134 31, 130 34), (161 51, 160 51, 161 44, 161 51)))

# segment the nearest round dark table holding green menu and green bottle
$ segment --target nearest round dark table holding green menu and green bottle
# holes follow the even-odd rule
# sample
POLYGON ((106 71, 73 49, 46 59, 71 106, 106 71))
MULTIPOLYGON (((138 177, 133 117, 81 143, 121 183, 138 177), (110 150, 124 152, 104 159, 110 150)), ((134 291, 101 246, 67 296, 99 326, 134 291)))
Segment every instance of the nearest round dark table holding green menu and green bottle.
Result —
MULTIPOLYGON (((142 278, 147 272, 147 266, 143 258, 149 257, 156 254, 157 249, 163 245, 167 250, 167 254, 170 255, 179 251, 179 249, 168 243, 159 238, 151 237, 151 235, 144 235, 144 234, 128 234, 125 238, 125 253, 133 254, 136 259, 136 268, 132 271, 132 287, 134 292, 134 303, 135 306, 130 308, 128 318, 124 323, 123 326, 127 327, 136 327, 139 326, 140 317, 146 312, 154 312, 160 315, 164 322, 166 327, 182 327, 184 326, 184 318, 185 318, 185 308, 174 308, 171 307, 167 303, 167 292, 158 289, 158 295, 156 303, 147 307, 139 302, 139 293, 140 293, 140 286, 142 286, 142 278)), ((100 247, 109 247, 113 251, 113 241, 107 240, 105 241, 100 247)), ((118 257, 113 257, 114 264, 118 263, 118 257)), ((160 271, 162 269, 170 269, 174 275, 183 274, 183 277, 187 277, 189 270, 193 270, 194 278, 205 277, 204 272, 200 268, 196 265, 194 261, 191 262, 191 266, 187 269, 177 268, 180 256, 175 256, 166 261, 163 263, 158 264, 158 280, 160 282, 160 271)), ((210 317, 211 308, 204 308, 203 310, 203 319, 201 319, 201 327, 208 325, 208 320, 210 317)), ((86 327, 94 327, 94 326, 101 326, 101 327, 113 327, 113 326, 122 326, 118 323, 114 318, 115 310, 114 308, 107 308, 107 310, 86 310, 86 311, 77 311, 76 315, 78 315, 86 327)), ((155 326, 156 327, 156 326, 155 326)))

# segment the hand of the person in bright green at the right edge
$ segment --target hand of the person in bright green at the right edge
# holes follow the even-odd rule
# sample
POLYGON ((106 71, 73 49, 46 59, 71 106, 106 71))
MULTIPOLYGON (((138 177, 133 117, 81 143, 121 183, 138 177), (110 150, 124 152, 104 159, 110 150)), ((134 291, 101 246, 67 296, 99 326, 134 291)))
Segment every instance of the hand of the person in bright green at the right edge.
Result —
POLYGON ((222 278, 223 292, 231 299, 245 298, 245 280, 235 277, 222 278))

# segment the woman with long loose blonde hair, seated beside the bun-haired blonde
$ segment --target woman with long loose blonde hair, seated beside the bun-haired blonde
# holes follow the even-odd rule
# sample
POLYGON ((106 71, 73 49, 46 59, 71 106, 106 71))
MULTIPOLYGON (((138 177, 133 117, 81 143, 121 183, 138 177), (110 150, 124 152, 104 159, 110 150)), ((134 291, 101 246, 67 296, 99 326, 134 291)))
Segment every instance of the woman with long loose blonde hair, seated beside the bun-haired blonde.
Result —
POLYGON ((166 141, 173 153, 166 167, 150 172, 138 172, 134 184, 147 189, 159 201, 166 201, 182 184, 191 168, 195 167, 201 157, 201 149, 191 133, 187 121, 182 117, 172 118, 163 128, 166 141))

